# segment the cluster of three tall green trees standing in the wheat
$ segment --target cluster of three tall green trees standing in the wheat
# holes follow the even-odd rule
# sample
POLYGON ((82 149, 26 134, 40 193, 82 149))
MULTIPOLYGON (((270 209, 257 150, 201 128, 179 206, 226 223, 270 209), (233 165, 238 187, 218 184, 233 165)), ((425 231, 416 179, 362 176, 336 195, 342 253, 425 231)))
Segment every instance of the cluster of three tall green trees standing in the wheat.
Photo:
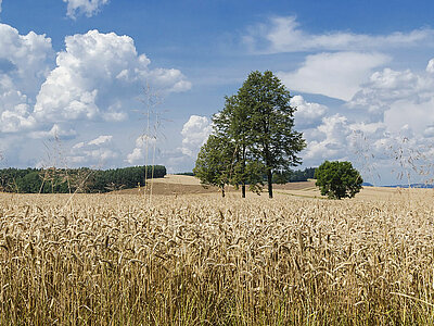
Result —
POLYGON ((246 186, 260 191, 266 176, 272 198, 275 173, 301 164, 297 153, 306 143, 294 130, 295 108, 290 91, 267 71, 248 75, 237 95, 226 97, 225 108, 213 117, 213 133, 201 148, 193 170, 202 184, 221 188, 246 186))

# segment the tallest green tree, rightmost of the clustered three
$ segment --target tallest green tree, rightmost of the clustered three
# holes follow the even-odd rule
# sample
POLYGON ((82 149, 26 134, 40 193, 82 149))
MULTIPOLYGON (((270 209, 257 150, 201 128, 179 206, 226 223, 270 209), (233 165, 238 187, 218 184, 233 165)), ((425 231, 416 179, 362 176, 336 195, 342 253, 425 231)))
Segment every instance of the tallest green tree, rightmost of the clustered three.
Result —
POLYGON ((294 130, 295 108, 290 104, 290 91, 271 72, 253 72, 237 98, 241 110, 248 112, 251 151, 265 166, 272 198, 273 172, 301 164, 297 153, 306 147, 303 134, 294 130))

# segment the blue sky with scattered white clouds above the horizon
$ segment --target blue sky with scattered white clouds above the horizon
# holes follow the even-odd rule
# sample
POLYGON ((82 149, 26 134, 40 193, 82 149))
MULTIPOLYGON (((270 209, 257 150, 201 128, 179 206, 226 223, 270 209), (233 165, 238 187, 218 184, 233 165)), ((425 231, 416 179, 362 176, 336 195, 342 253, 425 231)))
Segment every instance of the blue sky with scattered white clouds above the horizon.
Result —
POLYGON ((301 168, 434 176, 434 3, 0 0, 0 167, 191 172, 253 71, 293 96, 301 168))

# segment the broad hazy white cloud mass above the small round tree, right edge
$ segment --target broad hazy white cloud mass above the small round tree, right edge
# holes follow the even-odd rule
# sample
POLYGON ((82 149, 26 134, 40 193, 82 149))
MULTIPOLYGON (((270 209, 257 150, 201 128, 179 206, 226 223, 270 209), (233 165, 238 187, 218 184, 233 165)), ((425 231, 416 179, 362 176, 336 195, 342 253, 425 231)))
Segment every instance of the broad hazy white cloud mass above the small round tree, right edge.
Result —
POLYGON ((326 113, 318 125, 302 127, 308 143, 305 164, 350 160, 370 180, 382 175, 376 184, 403 176, 403 181, 424 181, 423 175, 434 173, 432 62, 421 72, 374 72, 340 114, 326 113))

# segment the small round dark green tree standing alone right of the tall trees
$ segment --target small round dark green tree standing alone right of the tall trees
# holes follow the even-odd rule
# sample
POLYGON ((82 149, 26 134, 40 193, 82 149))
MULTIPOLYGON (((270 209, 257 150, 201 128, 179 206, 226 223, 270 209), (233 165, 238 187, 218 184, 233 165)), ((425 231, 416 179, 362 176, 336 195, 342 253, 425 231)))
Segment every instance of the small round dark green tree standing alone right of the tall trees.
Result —
POLYGON ((350 162, 326 161, 315 171, 316 186, 330 199, 353 198, 361 189, 363 179, 350 162))

